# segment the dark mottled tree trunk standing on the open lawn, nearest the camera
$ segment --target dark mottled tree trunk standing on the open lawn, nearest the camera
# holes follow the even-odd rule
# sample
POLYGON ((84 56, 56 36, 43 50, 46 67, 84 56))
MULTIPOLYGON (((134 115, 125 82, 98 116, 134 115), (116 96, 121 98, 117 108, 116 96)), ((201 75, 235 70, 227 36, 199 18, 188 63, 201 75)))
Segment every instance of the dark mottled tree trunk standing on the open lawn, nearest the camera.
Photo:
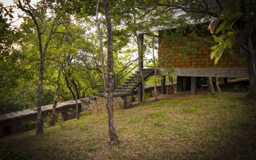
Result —
POLYGON ((107 0, 103 0, 103 6, 105 10, 106 17, 106 27, 107 27, 107 77, 106 77, 106 107, 108 110, 108 131, 110 137, 110 145, 118 145, 119 140, 116 135, 116 127, 114 123, 114 110, 113 110, 113 91, 114 91, 114 60, 112 52, 112 24, 110 18, 109 3, 107 0))

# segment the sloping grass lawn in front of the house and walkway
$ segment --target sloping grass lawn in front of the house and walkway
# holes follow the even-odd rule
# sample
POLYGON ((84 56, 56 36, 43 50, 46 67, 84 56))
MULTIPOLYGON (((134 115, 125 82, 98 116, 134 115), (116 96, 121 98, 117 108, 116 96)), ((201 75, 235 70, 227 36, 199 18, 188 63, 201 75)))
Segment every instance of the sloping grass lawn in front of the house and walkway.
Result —
MULTIPOLYGON (((217 94, 160 100, 115 112, 119 146, 108 146, 108 115, 81 116, 8 136, 0 149, 31 159, 256 159, 256 103, 217 94)), ((0 152, 4 157, 8 153, 0 152)), ((10 157, 9 156, 9 157, 10 157)))

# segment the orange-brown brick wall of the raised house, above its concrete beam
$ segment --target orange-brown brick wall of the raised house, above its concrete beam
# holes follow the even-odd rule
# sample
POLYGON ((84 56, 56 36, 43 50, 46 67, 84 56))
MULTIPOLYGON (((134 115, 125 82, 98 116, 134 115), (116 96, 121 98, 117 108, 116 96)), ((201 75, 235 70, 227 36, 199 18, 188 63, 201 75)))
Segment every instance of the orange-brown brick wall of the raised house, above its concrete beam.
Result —
MULTIPOLYGON (((162 45, 160 49, 160 54, 158 55, 159 60, 162 60, 163 56, 167 56, 172 52, 172 46, 174 43, 169 42, 168 44, 162 45)), ((176 46, 183 46, 184 44, 182 42, 175 43, 176 46)), ((188 60, 182 60, 182 57, 178 57, 179 50, 177 50, 175 53, 177 56, 175 56, 173 59, 169 60, 162 60, 164 62, 164 66, 160 66, 159 68, 165 68, 167 65, 171 65, 173 68, 208 68, 208 65, 210 68, 214 68, 214 59, 210 58, 210 53, 212 50, 210 49, 213 45, 205 43, 205 44, 198 44, 195 49, 198 51, 198 53, 190 53, 187 54, 185 57, 188 58, 188 60), (206 61, 207 60, 207 61, 206 61)), ((240 52, 238 47, 233 47, 233 51, 240 52)), ((244 56, 241 54, 241 56, 244 56)), ((228 60, 227 56, 223 56, 218 60, 217 68, 247 68, 246 60, 244 62, 236 61, 236 60, 228 60)))

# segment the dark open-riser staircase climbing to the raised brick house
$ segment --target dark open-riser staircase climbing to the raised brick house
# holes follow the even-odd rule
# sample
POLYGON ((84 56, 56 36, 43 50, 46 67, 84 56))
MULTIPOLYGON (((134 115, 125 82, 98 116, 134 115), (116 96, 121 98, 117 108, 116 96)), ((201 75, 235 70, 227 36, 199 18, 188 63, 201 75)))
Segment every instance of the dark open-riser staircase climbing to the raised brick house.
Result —
MULTIPOLYGON (((142 74, 144 78, 144 82, 146 82, 151 76, 154 75, 154 69, 152 68, 142 68, 142 74)), ((134 94, 135 90, 138 90, 138 88, 141 86, 142 83, 142 77, 140 75, 140 71, 135 71, 132 76, 129 76, 126 81, 121 84, 121 86, 118 86, 114 92, 125 92, 130 93, 130 95, 134 94)))

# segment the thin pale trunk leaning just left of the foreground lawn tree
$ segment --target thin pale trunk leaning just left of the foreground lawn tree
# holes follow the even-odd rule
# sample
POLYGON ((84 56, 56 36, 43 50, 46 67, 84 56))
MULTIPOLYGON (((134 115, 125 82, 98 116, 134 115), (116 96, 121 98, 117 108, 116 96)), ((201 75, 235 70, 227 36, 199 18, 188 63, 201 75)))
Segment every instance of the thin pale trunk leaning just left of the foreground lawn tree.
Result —
MULTIPOLYGON (((99 25, 99 21, 98 21, 98 11, 99 11, 99 5, 100 5, 100 0, 98 0, 97 3, 97 7, 96 7, 96 29, 98 32, 98 36, 99 36, 99 42, 100 42, 100 59, 101 59, 101 66, 102 66, 102 74, 103 74, 103 84, 104 84, 104 88, 106 88, 106 71, 105 71, 105 64, 104 64, 104 53, 103 53, 103 44, 102 44, 102 36, 100 33, 100 25, 99 25)), ((106 90, 106 89, 105 89, 106 90)))

